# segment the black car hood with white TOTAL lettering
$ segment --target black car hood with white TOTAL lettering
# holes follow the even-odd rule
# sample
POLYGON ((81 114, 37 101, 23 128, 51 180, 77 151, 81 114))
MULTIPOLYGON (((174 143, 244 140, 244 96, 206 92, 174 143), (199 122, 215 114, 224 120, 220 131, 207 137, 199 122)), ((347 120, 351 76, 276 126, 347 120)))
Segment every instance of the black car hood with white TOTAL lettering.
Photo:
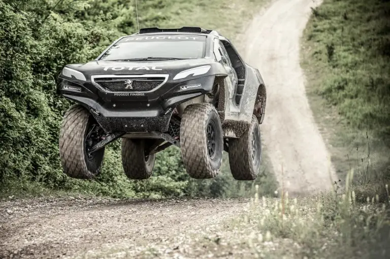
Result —
POLYGON ((85 64, 70 64, 68 68, 80 71, 88 79, 93 75, 144 75, 177 73, 204 65, 219 64, 213 59, 156 60, 156 61, 104 61, 93 60, 85 64))

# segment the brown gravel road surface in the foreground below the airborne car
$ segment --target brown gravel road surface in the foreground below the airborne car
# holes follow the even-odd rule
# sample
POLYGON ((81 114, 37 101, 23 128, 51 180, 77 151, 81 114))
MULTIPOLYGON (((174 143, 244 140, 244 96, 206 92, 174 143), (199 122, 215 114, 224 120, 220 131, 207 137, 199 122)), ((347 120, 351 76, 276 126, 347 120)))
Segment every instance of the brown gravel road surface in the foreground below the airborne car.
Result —
POLYGON ((0 258, 207 256, 193 246, 247 199, 45 197, 0 202, 0 258))

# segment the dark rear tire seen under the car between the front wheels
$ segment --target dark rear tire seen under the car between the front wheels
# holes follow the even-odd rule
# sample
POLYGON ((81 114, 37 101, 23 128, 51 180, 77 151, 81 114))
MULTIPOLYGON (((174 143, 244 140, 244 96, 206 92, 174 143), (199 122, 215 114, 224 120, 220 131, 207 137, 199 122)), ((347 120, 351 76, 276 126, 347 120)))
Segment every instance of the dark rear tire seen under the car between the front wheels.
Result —
POLYGON ((145 156, 144 139, 122 138, 122 166, 127 178, 144 180, 153 172, 155 154, 145 156))

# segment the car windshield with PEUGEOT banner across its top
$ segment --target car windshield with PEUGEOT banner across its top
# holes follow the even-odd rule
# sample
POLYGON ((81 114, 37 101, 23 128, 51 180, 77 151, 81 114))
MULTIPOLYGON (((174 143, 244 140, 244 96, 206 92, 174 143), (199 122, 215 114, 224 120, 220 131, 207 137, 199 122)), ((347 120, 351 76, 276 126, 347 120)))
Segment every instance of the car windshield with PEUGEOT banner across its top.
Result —
POLYGON ((115 43, 100 60, 191 59, 205 56, 206 36, 157 34, 128 36, 115 43))

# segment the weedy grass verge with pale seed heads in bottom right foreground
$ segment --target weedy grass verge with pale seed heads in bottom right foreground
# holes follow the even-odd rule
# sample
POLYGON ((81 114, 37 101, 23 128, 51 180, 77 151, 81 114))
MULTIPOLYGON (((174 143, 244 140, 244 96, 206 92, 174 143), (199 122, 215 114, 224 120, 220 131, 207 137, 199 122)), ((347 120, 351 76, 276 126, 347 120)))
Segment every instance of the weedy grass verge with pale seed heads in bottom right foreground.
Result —
POLYGON ((389 197, 359 201, 355 190, 289 199, 255 195, 247 212, 205 234, 215 257, 388 258, 389 197))

